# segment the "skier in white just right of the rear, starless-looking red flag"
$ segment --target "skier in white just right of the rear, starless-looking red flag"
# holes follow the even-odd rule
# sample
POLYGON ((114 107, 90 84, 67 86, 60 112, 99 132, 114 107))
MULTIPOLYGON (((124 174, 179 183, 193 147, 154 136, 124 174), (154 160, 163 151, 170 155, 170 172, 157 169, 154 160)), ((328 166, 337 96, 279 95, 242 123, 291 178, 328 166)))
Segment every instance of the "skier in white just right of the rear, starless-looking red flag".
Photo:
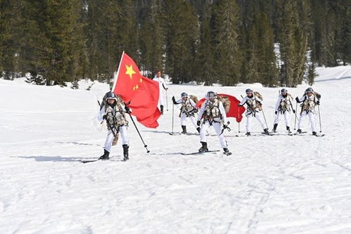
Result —
POLYGON ((241 103, 238 106, 248 105, 246 108, 246 136, 251 136, 251 121, 253 117, 257 119, 257 121, 262 126, 264 134, 269 134, 268 128, 266 124, 264 124, 261 110, 262 110, 262 99, 259 98, 251 89, 246 89, 246 96, 243 98, 241 103))

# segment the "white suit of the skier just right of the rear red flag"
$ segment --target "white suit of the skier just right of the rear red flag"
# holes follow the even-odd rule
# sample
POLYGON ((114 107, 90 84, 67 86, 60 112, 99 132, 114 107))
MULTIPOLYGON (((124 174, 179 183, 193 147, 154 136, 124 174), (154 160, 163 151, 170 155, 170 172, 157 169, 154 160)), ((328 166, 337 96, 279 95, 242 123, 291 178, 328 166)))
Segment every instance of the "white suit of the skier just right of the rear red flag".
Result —
POLYGON ((248 96, 245 96, 245 98, 239 103, 239 105, 245 105, 245 103, 248 105, 248 108, 246 108, 246 132, 251 131, 251 122, 253 121, 253 117, 255 117, 260 125, 262 126, 262 129, 267 129, 267 126, 264 124, 261 112, 259 110, 259 103, 262 104, 262 100, 255 96, 250 98, 248 96), (257 103, 258 102, 258 103, 257 103))

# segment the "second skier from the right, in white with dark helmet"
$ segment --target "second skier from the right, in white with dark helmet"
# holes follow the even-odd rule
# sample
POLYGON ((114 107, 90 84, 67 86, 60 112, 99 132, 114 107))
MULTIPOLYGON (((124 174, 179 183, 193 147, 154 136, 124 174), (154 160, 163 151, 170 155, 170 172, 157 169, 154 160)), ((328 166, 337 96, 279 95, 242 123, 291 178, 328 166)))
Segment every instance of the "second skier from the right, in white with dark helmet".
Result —
POLYGON ((281 94, 276 101, 276 108, 274 111, 276 118, 274 119, 273 132, 276 132, 276 127, 278 126, 281 116, 283 115, 285 118, 286 131, 288 131, 288 134, 291 134, 291 111, 295 114, 295 110, 293 109, 293 97, 286 89, 281 89, 281 94))

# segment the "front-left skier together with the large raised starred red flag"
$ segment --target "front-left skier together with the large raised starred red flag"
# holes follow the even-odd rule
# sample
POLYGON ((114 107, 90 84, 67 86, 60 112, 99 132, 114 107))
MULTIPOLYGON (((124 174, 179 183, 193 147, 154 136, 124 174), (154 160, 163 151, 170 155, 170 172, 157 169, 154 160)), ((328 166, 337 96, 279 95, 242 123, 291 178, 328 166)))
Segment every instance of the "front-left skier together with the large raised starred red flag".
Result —
MULTIPOLYGON (((125 113, 132 119, 135 127, 136 124, 132 115, 136 116, 136 120, 144 126, 157 128, 157 120, 161 115, 157 106, 158 95, 158 83, 143 77, 134 60, 127 53, 123 52, 117 73, 115 73, 115 81, 113 82, 112 89, 106 94, 106 104, 102 105, 98 115, 98 120, 101 122, 103 119, 106 119, 108 126, 108 136, 103 149, 103 155, 98 160, 109 159, 113 139, 119 133, 122 136, 124 160, 129 160, 128 122, 125 113)), ((138 131, 141 138, 137 128, 136 131, 138 131)), ((143 138, 141 138, 141 141, 143 142, 143 138)), ((143 144, 147 152, 150 152, 147 145, 144 142, 143 144)))

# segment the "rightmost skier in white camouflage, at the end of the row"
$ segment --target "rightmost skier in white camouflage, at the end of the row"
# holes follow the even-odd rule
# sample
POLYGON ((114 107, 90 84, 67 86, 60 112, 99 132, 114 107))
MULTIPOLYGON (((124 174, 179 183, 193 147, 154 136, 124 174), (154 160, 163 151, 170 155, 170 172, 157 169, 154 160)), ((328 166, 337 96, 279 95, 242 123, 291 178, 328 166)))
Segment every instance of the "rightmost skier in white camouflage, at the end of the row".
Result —
POLYGON ((307 88, 305 90, 305 94, 302 96, 302 98, 296 97, 296 101, 301 104, 301 113, 300 113, 300 120, 298 123, 298 134, 302 133, 302 122, 303 119, 305 119, 306 115, 309 118, 309 123, 311 124, 311 129, 312 129, 312 135, 317 136, 317 131, 316 131, 316 124, 314 120, 314 116, 316 114, 314 108, 316 105, 319 105, 319 98, 321 96, 319 93, 314 92, 311 87, 307 88))

